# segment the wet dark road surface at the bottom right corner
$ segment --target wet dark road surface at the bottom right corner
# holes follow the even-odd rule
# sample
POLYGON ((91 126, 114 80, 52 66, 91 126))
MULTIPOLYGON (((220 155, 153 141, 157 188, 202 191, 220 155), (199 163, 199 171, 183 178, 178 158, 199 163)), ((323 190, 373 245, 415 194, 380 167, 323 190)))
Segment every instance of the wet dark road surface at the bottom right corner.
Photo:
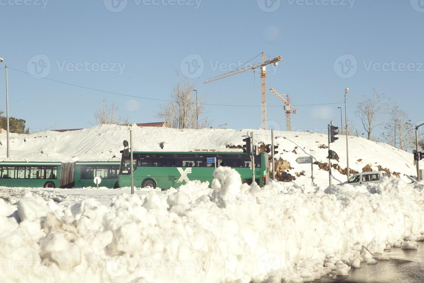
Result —
POLYGON ((391 248, 387 253, 390 261, 377 264, 362 263, 361 268, 351 269, 349 276, 323 277, 314 283, 331 282, 424 282, 424 244, 418 242, 417 249, 391 248))

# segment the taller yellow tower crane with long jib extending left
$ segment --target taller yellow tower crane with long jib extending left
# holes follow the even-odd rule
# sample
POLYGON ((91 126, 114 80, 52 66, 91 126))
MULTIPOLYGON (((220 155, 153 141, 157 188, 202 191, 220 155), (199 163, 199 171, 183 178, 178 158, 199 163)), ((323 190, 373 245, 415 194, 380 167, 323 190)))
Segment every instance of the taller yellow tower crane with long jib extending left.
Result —
POLYGON ((234 70, 232 72, 226 73, 224 75, 216 76, 214 78, 209 78, 204 81, 204 84, 210 83, 212 81, 218 81, 221 78, 228 78, 230 76, 238 75, 240 73, 244 73, 250 70, 256 70, 257 68, 261 68, 260 77, 261 77, 261 104, 262 104, 262 129, 266 129, 266 65, 274 64, 274 66, 278 65, 278 62, 281 61, 281 56, 275 57, 273 59, 265 61, 265 53, 262 52, 262 61, 260 63, 254 64, 252 66, 248 66, 242 69, 234 70))

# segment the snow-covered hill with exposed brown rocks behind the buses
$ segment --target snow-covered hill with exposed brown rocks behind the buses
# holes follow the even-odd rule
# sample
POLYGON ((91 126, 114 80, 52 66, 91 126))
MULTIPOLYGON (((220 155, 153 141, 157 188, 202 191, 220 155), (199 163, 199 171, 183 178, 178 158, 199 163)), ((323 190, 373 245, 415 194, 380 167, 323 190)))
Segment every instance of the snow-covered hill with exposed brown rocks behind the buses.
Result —
MULTIPOLYGON (((137 126, 99 125, 73 132, 37 132, 33 134, 11 134, 11 157, 26 160, 109 160, 120 158, 123 140, 129 140, 129 129, 133 129, 136 151, 188 151, 190 149, 222 149, 242 146, 243 138, 250 130, 232 129, 169 129, 137 126), (163 148, 162 148, 163 147, 163 148)), ((253 130, 255 144, 271 144, 271 131, 253 130)), ((6 157, 6 134, 0 134, 0 156, 6 157)), ((285 162, 279 163, 279 179, 294 180, 299 184, 310 184, 311 166, 296 163, 298 157, 314 158, 315 183, 328 184, 325 171, 328 160, 327 135, 309 132, 275 132, 275 144, 285 162), (321 169, 320 169, 321 168, 321 169)), ((335 183, 346 181, 346 139, 332 143, 338 160, 332 160, 335 183)), ((6 160, 6 159, 5 159, 6 160)), ((387 170, 411 182, 416 176, 412 154, 385 143, 377 143, 362 137, 349 136, 349 165, 351 173, 364 170, 387 170)))

